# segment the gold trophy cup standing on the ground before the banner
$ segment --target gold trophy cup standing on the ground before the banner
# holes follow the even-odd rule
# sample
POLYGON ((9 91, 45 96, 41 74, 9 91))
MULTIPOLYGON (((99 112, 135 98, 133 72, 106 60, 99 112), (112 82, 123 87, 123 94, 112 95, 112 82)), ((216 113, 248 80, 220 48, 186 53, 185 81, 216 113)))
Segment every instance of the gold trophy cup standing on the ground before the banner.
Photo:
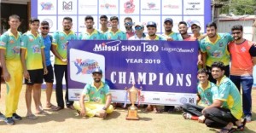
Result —
POLYGON ((134 103, 137 101, 137 95, 140 90, 138 90, 135 86, 135 84, 132 84, 132 87, 128 90, 125 88, 126 91, 128 91, 129 94, 129 100, 131 101, 131 107, 128 107, 128 114, 126 116, 127 120, 138 120, 139 117, 137 115, 137 107, 134 106, 134 103))

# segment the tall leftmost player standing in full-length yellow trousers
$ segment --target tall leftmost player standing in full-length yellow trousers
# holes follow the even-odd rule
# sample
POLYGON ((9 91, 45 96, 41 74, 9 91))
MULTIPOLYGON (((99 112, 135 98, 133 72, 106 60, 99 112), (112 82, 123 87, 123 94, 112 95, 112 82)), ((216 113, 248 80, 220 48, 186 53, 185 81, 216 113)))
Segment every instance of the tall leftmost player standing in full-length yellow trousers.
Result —
POLYGON ((3 67, 3 79, 8 89, 5 95, 5 117, 1 119, 6 124, 15 124, 21 117, 16 113, 22 88, 22 65, 20 61, 21 32, 20 17, 16 14, 9 16, 9 30, 0 38, 0 61, 3 67))

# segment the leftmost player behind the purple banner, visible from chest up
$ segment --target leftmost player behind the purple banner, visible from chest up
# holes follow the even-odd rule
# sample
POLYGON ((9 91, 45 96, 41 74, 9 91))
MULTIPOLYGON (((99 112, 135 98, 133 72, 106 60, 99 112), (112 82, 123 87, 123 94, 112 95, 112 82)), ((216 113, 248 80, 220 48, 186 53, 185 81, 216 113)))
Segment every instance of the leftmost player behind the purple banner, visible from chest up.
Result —
POLYGON ((93 17, 91 15, 87 15, 84 18, 84 24, 86 29, 79 35, 79 40, 102 40, 103 34, 98 32, 94 27, 93 17))

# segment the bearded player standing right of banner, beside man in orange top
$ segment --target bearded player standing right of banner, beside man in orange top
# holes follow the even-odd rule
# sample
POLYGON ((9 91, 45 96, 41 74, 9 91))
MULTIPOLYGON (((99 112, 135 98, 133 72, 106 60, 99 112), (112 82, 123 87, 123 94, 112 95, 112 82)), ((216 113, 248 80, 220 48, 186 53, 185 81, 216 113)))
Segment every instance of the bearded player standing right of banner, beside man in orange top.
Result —
MULTIPOLYGON (((222 61, 225 66, 224 74, 230 76, 230 53, 228 51, 228 43, 233 41, 230 34, 217 33, 217 25, 214 22, 207 24, 207 37, 200 41, 200 48, 202 52, 203 66, 211 72, 211 65, 214 61, 222 61)), ((209 73, 209 80, 216 83, 209 73)))

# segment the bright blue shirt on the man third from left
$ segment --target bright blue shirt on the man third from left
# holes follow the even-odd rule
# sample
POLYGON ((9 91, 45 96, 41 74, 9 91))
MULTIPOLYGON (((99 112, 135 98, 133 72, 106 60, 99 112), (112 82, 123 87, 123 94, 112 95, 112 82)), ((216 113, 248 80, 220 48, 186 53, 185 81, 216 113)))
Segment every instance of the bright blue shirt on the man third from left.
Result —
POLYGON ((51 65, 50 63, 50 55, 49 55, 49 52, 50 52, 50 47, 51 47, 51 40, 50 40, 50 37, 49 35, 47 35, 44 39, 44 56, 45 56, 45 63, 46 63, 46 66, 49 66, 51 65))

